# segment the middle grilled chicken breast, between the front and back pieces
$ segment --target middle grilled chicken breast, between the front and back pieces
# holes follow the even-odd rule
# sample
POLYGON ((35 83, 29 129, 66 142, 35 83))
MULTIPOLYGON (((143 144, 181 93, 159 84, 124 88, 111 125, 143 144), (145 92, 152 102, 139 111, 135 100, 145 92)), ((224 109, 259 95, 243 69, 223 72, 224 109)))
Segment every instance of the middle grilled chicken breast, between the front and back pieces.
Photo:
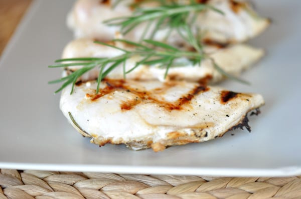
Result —
MULTIPOLYGON (((111 43, 112 44, 112 43, 111 43)), ((217 43, 215 43, 217 44, 217 43)), ((123 47, 123 43, 115 42, 115 45, 123 47)), ((238 76, 241 71, 247 69, 250 65, 258 61, 264 54, 264 51, 259 48, 251 47, 247 44, 234 44, 230 46, 216 46, 208 45, 205 51, 211 58, 227 73, 238 76)), ((121 50, 94 43, 92 39, 82 38, 71 41, 64 49, 63 58, 75 57, 113 57, 123 53, 121 50)), ((132 68, 139 57, 132 57, 126 61, 126 70, 132 68)), ((148 66, 140 65, 126 75, 130 79, 159 79, 161 81, 168 79, 185 79, 189 81, 204 81, 210 80, 217 82, 223 79, 223 75, 218 72, 210 58, 204 59, 201 65, 193 65, 187 59, 183 59, 185 66, 171 67, 167 78, 164 79, 166 69, 158 67, 158 65, 148 66)), ((81 66, 68 67, 67 73, 79 69, 81 66)), ((98 77, 99 68, 95 68, 79 78, 79 80, 86 81, 96 79, 98 77)), ((112 70, 108 78, 123 78, 123 67, 112 70)))

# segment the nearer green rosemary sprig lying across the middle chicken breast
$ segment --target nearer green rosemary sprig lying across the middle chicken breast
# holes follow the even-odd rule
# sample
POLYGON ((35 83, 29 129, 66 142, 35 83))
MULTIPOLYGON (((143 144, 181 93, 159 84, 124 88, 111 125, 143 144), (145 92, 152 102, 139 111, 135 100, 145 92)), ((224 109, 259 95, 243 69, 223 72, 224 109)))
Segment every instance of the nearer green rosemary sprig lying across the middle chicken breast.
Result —
POLYGON ((114 42, 124 42, 126 44, 132 45, 132 48, 121 48, 112 44, 95 41, 96 43, 107 45, 118 50, 121 50, 122 53, 114 57, 83 57, 83 58, 67 58, 67 59, 58 59, 55 62, 58 64, 50 65, 49 67, 68 67, 68 66, 81 66, 81 68, 75 70, 71 74, 62 77, 57 80, 50 81, 49 83, 58 83, 64 82, 62 86, 55 91, 55 93, 61 91, 69 84, 72 84, 72 89, 70 94, 73 92, 74 85, 77 79, 88 72, 89 70, 98 67, 100 69, 98 79, 97 79, 97 92, 99 90, 99 84, 101 80, 114 68, 118 67, 120 64, 123 64, 124 75, 131 72, 139 65, 158 65, 159 67, 165 67, 165 77, 168 74, 168 70, 173 65, 177 65, 176 60, 178 58, 186 57, 193 64, 201 63, 201 60, 205 58, 204 53, 199 53, 198 51, 192 52, 187 50, 181 50, 172 45, 166 44, 164 42, 145 39, 141 43, 124 40, 124 39, 114 39, 114 42), (125 62, 128 58, 133 56, 139 56, 140 59, 136 61, 129 70, 125 70, 125 62), (72 62, 70 62, 72 61, 72 62), (74 62, 75 61, 75 62, 74 62))

